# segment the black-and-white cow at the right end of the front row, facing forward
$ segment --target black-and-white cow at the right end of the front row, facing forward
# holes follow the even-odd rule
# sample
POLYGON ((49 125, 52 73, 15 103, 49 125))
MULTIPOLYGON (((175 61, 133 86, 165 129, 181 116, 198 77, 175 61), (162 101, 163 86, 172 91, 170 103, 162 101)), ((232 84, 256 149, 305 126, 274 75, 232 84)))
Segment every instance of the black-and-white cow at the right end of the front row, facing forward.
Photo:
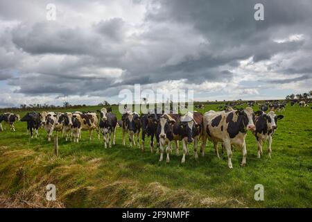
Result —
POLYGON ((258 153, 257 157, 260 158, 262 154, 263 142, 268 140, 268 156, 271 158, 272 153, 272 136, 277 130, 277 120, 283 119, 283 115, 277 115, 275 112, 270 111, 268 114, 266 112, 257 111, 255 118, 256 130, 253 132, 257 139, 258 153))

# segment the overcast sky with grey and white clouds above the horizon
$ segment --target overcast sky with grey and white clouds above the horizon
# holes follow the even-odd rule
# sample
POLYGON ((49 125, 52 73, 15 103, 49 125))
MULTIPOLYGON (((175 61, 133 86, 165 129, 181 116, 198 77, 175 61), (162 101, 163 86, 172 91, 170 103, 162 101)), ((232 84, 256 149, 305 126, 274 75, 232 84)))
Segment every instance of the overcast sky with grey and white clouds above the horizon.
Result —
POLYGON ((308 92, 311 15, 311 0, 0 0, 0 107, 116 103, 136 83, 198 101, 308 92))

